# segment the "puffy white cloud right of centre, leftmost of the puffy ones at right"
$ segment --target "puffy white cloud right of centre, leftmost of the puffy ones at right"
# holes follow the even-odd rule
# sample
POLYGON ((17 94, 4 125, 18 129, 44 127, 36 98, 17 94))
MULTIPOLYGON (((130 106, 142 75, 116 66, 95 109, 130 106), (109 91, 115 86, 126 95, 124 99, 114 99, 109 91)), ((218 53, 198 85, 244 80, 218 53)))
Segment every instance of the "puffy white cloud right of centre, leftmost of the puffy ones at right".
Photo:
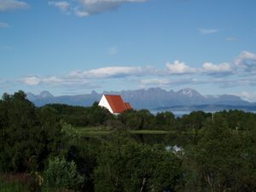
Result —
POLYGON ((184 62, 178 60, 174 61, 174 63, 167 62, 166 67, 171 74, 188 74, 198 71, 196 68, 189 67, 184 62))

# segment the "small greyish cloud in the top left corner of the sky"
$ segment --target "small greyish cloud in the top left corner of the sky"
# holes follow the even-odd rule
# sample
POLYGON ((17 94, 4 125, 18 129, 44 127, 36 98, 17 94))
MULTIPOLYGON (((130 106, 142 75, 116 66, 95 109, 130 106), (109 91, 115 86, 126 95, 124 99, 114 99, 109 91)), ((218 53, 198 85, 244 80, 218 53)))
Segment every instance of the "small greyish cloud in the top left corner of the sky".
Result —
POLYGON ((27 3, 18 0, 0 0, 0 11, 24 9, 28 6, 27 3))

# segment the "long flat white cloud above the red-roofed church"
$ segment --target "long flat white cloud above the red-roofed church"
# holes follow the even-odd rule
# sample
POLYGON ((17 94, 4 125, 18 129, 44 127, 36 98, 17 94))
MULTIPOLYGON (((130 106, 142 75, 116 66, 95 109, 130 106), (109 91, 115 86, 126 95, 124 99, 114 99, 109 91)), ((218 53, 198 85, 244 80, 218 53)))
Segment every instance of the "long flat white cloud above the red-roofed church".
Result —
POLYGON ((89 71, 74 71, 69 74, 72 78, 79 79, 108 79, 126 76, 139 76, 143 74, 141 67, 102 67, 89 71))

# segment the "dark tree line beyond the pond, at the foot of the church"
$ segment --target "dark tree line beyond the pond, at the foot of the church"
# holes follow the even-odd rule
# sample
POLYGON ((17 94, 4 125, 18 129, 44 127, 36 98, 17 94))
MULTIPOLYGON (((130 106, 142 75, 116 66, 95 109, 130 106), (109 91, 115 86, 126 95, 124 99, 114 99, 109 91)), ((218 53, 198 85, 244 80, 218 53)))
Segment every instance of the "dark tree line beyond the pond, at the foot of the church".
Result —
POLYGON ((108 109, 101 108, 95 102, 91 107, 68 106, 66 104, 48 104, 55 109, 59 119, 76 127, 106 126, 130 130, 170 130, 195 131, 201 130, 204 124, 215 119, 222 119, 230 129, 249 131, 256 126, 256 114, 241 110, 229 110, 216 113, 195 111, 175 117, 172 112, 150 113, 147 109, 126 110, 113 115, 108 109))

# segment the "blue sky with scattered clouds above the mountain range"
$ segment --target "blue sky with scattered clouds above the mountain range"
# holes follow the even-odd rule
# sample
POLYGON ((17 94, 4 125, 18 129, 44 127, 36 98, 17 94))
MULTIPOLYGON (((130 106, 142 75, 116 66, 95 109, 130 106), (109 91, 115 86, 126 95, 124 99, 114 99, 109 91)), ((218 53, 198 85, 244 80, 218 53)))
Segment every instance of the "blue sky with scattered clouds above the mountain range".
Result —
POLYGON ((191 88, 256 102, 255 0, 0 0, 0 94, 191 88))

